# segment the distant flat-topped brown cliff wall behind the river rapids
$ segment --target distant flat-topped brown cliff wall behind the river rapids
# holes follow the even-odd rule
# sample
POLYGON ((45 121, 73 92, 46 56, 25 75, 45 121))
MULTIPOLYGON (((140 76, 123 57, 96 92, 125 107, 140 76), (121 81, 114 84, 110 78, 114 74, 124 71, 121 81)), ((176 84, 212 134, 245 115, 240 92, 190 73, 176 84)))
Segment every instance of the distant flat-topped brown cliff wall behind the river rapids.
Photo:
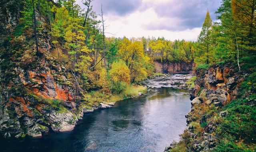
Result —
POLYGON ((154 70, 158 73, 177 74, 192 70, 193 62, 154 62, 154 70))

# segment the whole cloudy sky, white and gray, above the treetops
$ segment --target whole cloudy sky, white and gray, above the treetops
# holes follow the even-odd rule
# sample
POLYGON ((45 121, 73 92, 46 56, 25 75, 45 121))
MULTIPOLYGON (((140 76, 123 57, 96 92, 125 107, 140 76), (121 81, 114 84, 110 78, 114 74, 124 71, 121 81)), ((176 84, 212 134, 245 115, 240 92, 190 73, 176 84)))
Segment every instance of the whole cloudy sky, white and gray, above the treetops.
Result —
MULTIPOLYGON (((84 8, 81 1, 77 0, 84 8)), ((108 25, 107 36, 195 41, 207 10, 212 20, 216 20, 214 12, 221 0, 93 0, 97 14, 101 4, 108 25)))

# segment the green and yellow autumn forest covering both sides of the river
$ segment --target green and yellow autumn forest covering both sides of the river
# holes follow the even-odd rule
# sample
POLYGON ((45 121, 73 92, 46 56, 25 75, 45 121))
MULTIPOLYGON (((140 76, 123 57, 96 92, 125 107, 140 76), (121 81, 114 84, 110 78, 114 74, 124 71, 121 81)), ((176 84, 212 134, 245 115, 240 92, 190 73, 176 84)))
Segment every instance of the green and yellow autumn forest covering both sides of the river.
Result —
MULTIPOLYGON (((239 108, 243 107, 232 109, 232 117, 219 128, 223 132, 226 129, 226 132, 219 137, 215 151, 235 149, 251 152, 250 146, 255 150, 255 0, 222 0, 215 12, 216 22, 209 11, 206 12, 197 41, 170 41, 164 37, 106 37, 104 10, 96 14, 92 1, 83 0, 86 9, 82 9, 76 0, 18 0, 16 3, 21 10, 18 24, 8 37, 1 40, 1 48, 4 48, 0 51, 1 86, 16 84, 15 78, 22 77, 17 74, 17 69, 43 69, 39 60, 46 58, 50 67, 61 65, 65 69, 67 81, 58 76, 54 78, 60 79, 63 85, 75 87, 75 94, 79 96, 77 109, 80 105, 90 109, 100 101, 115 102, 145 92, 141 82, 158 75, 154 62, 192 62, 193 70, 232 64, 236 72, 248 73, 235 101, 246 108, 250 117, 241 112, 239 108), (42 39, 47 39, 50 45, 42 39), (45 52, 42 46, 50 51, 45 52), (246 92, 252 93, 248 96, 254 99, 252 107, 246 107, 249 103, 244 104, 246 92), (237 114, 239 112, 242 116, 237 114), (231 123, 238 119, 240 122, 238 117, 242 124, 231 123), (244 124, 249 127, 240 132, 238 125, 244 124), (246 133, 248 130, 252 134, 246 133), (232 141, 227 143, 228 138, 232 141)), ((15 87, 6 88, 17 96, 28 94, 38 98, 22 86, 15 87)), ((58 100, 49 102, 55 107, 61 104, 58 100)), ((232 105, 226 108, 234 108, 232 105)), ((67 109, 60 107, 59 111, 67 109)), ((187 151, 188 142, 182 140, 172 151, 187 151)))

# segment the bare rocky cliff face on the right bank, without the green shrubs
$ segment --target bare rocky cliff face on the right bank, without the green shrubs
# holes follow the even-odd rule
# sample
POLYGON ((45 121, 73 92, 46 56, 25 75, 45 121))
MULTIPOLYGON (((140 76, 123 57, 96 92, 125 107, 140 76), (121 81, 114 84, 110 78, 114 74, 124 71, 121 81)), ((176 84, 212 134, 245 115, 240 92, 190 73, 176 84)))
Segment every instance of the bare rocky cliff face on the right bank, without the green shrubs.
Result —
POLYGON ((176 152, 180 147, 192 152, 209 152, 216 146, 218 125, 227 114, 223 107, 236 99, 247 75, 234 69, 232 64, 225 64, 196 70, 195 87, 190 93, 192 108, 186 115, 188 127, 180 142, 166 147, 166 152, 176 152))

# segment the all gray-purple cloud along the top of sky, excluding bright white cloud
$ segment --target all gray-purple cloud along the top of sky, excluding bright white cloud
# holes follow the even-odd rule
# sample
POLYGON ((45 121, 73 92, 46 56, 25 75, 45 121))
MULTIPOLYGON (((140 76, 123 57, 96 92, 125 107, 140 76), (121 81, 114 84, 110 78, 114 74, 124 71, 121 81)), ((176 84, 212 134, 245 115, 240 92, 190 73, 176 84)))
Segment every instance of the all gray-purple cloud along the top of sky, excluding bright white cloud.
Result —
MULTIPOLYGON (((80 0, 81 1, 81 0, 80 0)), ((222 0, 170 0, 170 2, 152 2, 142 0, 93 0, 93 10, 100 13, 101 4, 105 17, 126 16, 132 12, 143 12, 153 8, 158 17, 165 18, 161 23, 152 22, 142 25, 147 30, 182 31, 202 27, 206 11, 210 11, 212 20, 216 20, 214 12, 222 0), (174 19, 176 18, 176 20, 174 19)), ((78 0, 78 3, 79 2, 78 0)), ((81 5, 83 7, 83 5, 81 5)), ((84 7, 83 7, 84 8, 84 7)))

